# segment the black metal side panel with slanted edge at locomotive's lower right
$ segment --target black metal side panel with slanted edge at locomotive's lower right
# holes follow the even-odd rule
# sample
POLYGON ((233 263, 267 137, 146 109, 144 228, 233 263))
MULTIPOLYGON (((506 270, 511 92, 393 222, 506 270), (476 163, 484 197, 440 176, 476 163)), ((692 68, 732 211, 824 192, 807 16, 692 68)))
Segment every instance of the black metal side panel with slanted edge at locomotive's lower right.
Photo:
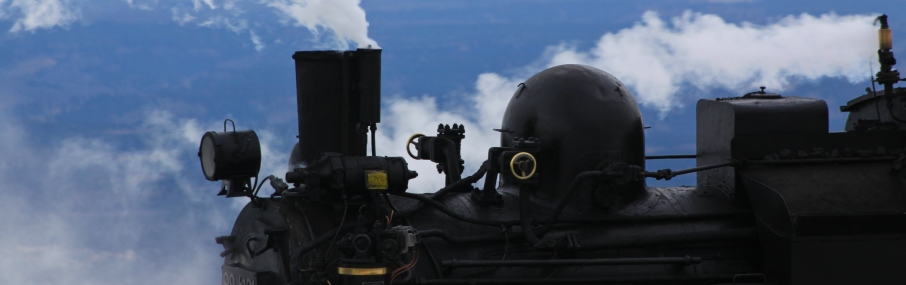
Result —
POLYGON ((741 170, 756 209, 769 279, 781 284, 858 283, 861 279, 854 279, 855 275, 870 276, 877 283, 906 280, 906 275, 887 272, 904 265, 893 256, 906 255, 906 239, 885 241, 890 235, 906 235, 906 193, 897 175, 890 173, 891 165, 888 160, 741 170), (850 241, 821 241, 828 238, 850 241), (846 249, 865 246, 874 250, 846 249), (835 265, 831 267, 849 269, 825 271, 819 267, 826 260, 850 266, 835 265), (861 268, 859 274, 852 274, 855 268, 861 268))

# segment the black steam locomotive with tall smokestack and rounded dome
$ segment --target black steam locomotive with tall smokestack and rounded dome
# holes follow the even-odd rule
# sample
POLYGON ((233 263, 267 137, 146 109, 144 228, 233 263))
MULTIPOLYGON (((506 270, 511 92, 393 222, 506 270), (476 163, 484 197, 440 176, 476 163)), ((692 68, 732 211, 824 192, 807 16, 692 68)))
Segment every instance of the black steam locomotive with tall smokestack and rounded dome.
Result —
POLYGON ((840 107, 845 132, 828 132, 825 101, 762 87, 698 101, 695 155, 646 156, 625 85, 561 65, 517 86, 474 174, 464 126, 412 136, 410 158, 445 175, 431 194, 406 192, 407 158, 368 154, 381 50, 296 52, 283 179, 258 181, 254 131, 201 140, 219 195, 251 198, 216 238, 221 284, 904 284, 906 89, 878 20, 883 91, 840 107), (645 168, 671 158, 697 166, 645 168), (645 184, 690 173, 696 186, 645 184))

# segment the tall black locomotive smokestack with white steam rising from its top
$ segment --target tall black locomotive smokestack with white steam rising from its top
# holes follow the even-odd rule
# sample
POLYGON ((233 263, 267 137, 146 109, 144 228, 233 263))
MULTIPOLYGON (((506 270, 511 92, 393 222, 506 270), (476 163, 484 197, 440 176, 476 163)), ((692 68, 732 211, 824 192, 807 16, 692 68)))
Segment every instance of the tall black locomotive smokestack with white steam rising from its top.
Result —
POLYGON ((381 50, 300 51, 296 62, 299 162, 323 153, 364 156, 368 126, 380 122, 381 50))

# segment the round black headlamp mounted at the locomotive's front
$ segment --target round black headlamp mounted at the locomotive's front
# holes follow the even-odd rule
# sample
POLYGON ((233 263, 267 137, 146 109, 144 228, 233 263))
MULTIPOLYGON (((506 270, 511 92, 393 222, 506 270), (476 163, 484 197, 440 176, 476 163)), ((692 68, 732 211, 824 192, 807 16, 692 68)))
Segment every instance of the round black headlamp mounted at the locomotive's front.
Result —
POLYGON ((227 132, 226 119, 223 132, 207 132, 201 137, 198 158, 205 179, 222 181, 220 193, 227 197, 249 196, 254 185, 252 177, 261 169, 261 145, 255 131, 233 130, 227 132))

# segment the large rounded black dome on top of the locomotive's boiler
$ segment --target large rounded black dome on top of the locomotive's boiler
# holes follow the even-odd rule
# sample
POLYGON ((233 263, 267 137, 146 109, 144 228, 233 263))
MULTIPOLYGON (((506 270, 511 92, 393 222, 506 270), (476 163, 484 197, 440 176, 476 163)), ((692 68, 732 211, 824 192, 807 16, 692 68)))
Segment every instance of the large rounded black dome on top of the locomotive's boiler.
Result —
MULTIPOLYGON (((560 65, 526 80, 510 99, 501 130, 502 146, 511 146, 514 137, 541 140, 536 202, 559 201, 576 175, 602 162, 645 167, 642 116, 635 99, 613 75, 594 67, 560 65)), ((581 200, 610 207, 643 193, 645 184, 609 188, 580 188, 574 198, 593 195, 581 200)))

